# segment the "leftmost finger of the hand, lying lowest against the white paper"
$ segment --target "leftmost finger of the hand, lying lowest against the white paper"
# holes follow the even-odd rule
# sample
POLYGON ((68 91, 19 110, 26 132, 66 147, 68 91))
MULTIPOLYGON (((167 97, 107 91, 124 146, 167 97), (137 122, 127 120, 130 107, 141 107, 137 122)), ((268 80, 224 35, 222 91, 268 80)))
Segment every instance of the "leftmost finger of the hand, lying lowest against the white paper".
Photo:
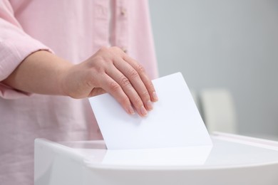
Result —
POLYGON ((102 84, 103 90, 110 93, 115 100, 117 100, 123 109, 128 112, 128 114, 135 114, 133 107, 131 106, 130 100, 127 95, 123 92, 123 89, 118 83, 115 82, 109 75, 103 74, 98 78, 100 84, 102 84))

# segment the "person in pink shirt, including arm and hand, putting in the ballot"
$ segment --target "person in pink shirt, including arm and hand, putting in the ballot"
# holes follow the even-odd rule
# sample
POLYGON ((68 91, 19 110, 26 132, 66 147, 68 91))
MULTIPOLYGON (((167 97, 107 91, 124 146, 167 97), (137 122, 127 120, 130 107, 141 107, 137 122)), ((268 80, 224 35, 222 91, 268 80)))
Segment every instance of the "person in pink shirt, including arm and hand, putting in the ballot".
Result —
POLYGON ((147 115, 157 75, 147 1, 0 0, 0 184, 34 183, 36 137, 102 138, 85 97, 147 115))

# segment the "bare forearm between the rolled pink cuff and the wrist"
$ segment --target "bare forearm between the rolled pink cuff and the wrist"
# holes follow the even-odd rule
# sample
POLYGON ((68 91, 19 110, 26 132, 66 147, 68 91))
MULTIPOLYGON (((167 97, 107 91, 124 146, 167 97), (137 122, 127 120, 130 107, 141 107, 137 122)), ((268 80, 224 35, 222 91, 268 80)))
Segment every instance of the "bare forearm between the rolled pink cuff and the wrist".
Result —
POLYGON ((2 83, 29 93, 65 95, 61 74, 71 65, 48 51, 37 51, 24 59, 2 83))

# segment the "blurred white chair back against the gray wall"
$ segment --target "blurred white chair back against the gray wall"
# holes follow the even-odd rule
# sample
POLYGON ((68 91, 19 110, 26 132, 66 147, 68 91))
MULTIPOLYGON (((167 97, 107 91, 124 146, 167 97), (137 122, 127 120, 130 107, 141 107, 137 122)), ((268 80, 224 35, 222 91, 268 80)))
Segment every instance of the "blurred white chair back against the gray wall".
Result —
POLYGON ((200 91, 201 114, 207 130, 237 133, 237 119, 232 95, 226 89, 200 91))

